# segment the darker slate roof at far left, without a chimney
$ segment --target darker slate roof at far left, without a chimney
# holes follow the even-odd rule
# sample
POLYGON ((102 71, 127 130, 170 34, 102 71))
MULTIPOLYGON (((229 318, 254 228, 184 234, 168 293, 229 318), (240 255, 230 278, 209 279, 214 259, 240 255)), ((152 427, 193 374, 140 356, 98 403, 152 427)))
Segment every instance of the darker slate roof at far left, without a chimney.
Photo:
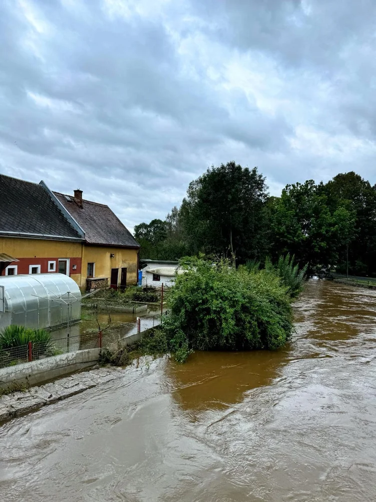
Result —
POLYGON ((79 237, 47 190, 0 174, 0 230, 79 237))

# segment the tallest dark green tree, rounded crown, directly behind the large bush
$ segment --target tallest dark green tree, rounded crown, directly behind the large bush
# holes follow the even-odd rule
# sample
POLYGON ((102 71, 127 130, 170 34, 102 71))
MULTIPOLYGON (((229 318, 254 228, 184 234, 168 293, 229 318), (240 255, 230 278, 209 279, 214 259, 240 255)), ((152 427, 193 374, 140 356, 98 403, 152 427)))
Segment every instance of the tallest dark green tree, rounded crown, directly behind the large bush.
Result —
POLYGON ((191 252, 245 262, 265 252, 265 178, 235 162, 190 183, 180 217, 191 252))

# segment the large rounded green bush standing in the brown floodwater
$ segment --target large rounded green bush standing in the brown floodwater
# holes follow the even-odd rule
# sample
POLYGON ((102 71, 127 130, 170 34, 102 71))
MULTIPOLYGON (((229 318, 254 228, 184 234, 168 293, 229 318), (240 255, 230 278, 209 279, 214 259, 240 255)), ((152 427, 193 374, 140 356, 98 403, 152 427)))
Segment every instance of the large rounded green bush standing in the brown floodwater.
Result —
POLYGON ((192 349, 276 349, 289 339, 290 295, 278 275, 198 261, 175 279, 163 331, 184 360, 192 349))

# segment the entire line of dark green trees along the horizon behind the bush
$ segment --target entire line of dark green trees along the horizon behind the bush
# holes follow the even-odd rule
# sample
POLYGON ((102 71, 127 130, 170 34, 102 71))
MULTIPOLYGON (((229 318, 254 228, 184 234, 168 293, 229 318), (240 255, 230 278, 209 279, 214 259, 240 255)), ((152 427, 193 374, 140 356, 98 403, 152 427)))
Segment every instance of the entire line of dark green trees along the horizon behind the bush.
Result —
POLYGON ((257 168, 229 162, 190 183, 164 221, 137 225, 135 237, 141 258, 202 254, 240 265, 290 253, 309 272, 345 272, 348 256, 349 273, 376 276, 376 186, 349 172, 325 184, 287 185, 280 197, 269 197, 257 168))

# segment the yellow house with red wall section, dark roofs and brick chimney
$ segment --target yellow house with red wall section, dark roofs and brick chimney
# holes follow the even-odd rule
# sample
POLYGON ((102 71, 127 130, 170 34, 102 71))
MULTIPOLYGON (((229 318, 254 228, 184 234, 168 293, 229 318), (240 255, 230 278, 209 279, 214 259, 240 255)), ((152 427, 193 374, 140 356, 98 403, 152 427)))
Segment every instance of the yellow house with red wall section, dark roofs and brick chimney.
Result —
POLYGON ((0 175, 0 275, 67 274, 84 289, 136 284, 139 244, 111 209, 0 175), (8 256, 1 260, 1 255, 8 256))

